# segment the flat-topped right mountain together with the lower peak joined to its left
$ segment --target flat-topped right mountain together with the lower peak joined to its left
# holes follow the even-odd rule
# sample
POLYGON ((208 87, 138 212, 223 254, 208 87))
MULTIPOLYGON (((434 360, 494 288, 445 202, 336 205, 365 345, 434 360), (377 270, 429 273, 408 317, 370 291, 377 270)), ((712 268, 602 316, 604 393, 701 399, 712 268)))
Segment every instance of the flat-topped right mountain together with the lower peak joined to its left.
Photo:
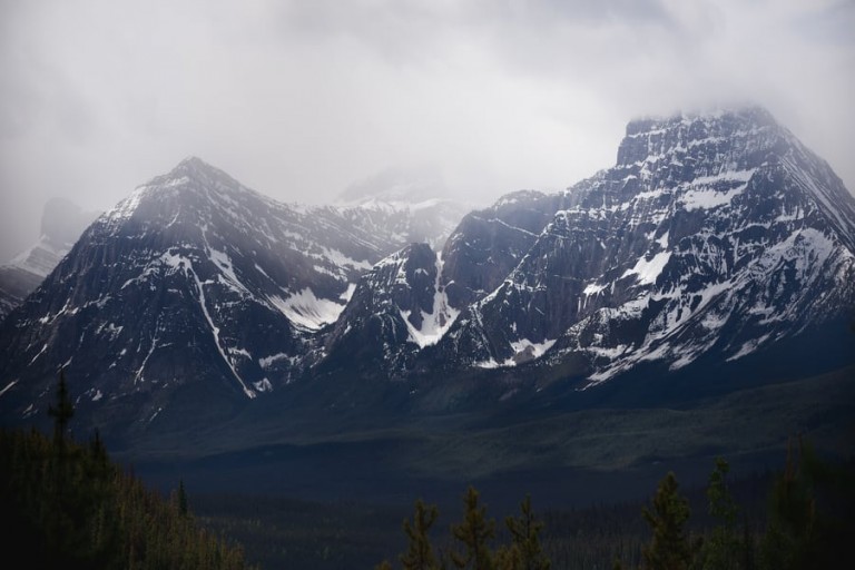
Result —
POLYGON ((615 167, 470 213, 436 259, 414 245, 375 266, 318 370, 432 379, 524 364, 521 376, 586 387, 831 327, 816 372, 852 362, 854 253, 855 199, 766 110, 636 120, 615 167))

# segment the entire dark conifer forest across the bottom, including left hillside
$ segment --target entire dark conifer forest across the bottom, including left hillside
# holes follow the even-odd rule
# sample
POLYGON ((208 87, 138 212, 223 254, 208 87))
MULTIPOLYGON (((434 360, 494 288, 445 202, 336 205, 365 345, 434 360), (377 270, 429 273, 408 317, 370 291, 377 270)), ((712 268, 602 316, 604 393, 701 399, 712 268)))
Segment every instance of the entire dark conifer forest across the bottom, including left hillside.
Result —
POLYGON ((561 509, 524 495, 498 519, 470 485, 455 512, 414 498, 402 524, 384 504, 194 495, 180 480, 164 495, 97 432, 69 436, 62 376, 49 413, 52 436, 0 431, 6 553, 33 568, 833 568, 855 535, 855 463, 800 438, 780 470, 751 479, 730 481, 719 459, 704 489, 667 472, 646 501, 561 509))

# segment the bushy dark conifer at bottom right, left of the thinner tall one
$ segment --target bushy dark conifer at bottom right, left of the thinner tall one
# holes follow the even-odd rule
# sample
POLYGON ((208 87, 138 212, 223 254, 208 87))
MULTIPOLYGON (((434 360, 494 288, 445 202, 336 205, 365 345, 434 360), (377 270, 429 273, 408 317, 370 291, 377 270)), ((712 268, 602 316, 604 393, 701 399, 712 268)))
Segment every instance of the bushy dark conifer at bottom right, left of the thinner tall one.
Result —
POLYGON ((679 484, 672 472, 659 483, 653 497, 652 510, 642 514, 653 537, 641 549, 645 568, 651 570, 684 570, 691 563, 692 548, 686 534, 689 520, 689 501, 679 493, 679 484))

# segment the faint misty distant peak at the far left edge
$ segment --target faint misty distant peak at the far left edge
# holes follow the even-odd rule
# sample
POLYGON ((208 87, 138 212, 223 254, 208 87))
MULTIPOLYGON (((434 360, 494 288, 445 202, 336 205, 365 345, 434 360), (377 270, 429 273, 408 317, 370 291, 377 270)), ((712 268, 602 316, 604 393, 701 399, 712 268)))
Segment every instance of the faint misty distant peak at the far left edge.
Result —
POLYGON ((11 262, 0 265, 0 321, 48 276, 98 216, 65 198, 52 198, 41 215, 39 239, 11 262))

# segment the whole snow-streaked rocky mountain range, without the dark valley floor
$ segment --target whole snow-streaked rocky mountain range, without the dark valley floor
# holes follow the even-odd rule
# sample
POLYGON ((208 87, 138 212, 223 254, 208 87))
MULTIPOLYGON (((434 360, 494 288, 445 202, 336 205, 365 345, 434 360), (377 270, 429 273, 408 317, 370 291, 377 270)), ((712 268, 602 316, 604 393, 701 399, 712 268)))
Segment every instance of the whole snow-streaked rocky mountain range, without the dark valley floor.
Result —
POLYGON ((855 198, 759 107, 633 120, 615 166, 471 212, 282 204, 188 158, 2 322, 0 410, 40 421, 60 368, 116 439, 377 383, 434 412, 701 393, 854 364, 854 308, 855 198))

